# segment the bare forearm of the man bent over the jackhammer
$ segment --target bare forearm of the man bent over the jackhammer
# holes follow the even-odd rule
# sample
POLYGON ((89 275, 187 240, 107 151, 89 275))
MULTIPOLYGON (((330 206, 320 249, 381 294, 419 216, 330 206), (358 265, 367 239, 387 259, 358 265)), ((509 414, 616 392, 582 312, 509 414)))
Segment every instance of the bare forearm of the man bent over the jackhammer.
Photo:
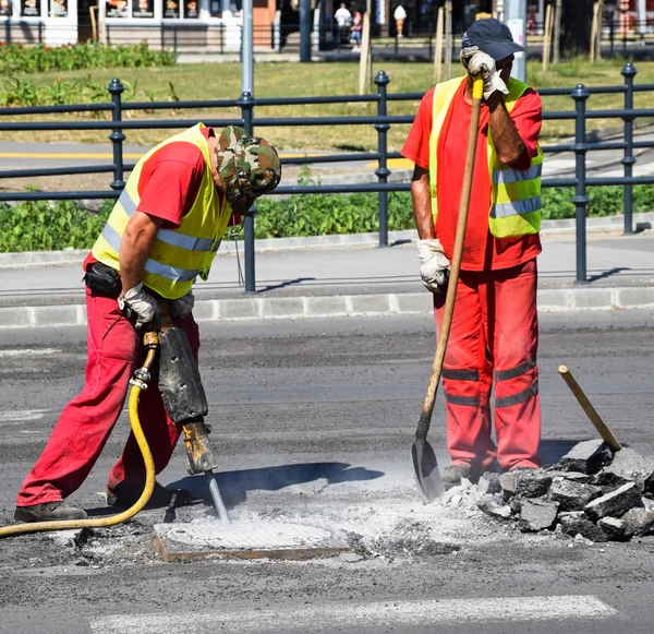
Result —
POLYGON ((119 265, 123 292, 134 288, 143 275, 143 270, 155 243, 162 218, 134 212, 125 227, 120 244, 119 265))

